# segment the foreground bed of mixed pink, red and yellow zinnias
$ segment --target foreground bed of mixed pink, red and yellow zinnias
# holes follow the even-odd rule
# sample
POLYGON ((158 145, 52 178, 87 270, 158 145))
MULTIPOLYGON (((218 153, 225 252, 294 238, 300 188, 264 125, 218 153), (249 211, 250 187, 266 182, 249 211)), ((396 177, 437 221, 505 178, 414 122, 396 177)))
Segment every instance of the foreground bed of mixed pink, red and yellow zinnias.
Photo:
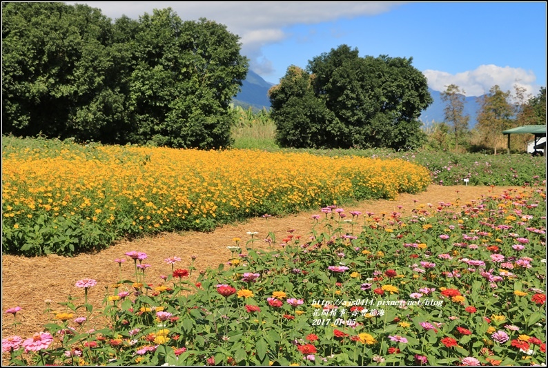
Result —
POLYGON ((79 280, 44 331, 3 336, 3 352, 13 365, 545 365, 545 186, 405 216, 327 206, 266 250, 242 233, 219 269, 166 254, 159 282, 146 253, 121 253, 110 267, 131 280, 79 280))

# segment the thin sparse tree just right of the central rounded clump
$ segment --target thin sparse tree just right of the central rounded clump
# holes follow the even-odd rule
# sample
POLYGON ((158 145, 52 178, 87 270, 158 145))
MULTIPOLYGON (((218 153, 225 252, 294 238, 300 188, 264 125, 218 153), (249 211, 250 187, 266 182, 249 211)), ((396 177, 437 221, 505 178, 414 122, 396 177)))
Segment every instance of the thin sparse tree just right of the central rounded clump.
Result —
POLYGON ((468 131, 469 115, 464 115, 464 90, 460 90, 455 84, 449 84, 446 90, 441 93, 442 101, 446 102, 443 109, 446 123, 451 124, 453 135, 455 135, 455 149, 458 151, 458 144, 468 131))

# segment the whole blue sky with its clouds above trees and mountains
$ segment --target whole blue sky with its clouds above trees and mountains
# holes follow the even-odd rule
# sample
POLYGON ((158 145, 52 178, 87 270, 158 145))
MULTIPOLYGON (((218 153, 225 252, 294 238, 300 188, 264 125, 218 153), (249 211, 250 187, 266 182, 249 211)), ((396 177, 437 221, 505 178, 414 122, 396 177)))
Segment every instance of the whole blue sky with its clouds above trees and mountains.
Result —
POLYGON ((468 96, 498 84, 536 95, 546 86, 546 3, 85 2, 116 19, 170 6, 183 20, 205 17, 241 37, 251 69, 277 84, 346 43, 360 56, 413 57, 429 86, 456 84, 468 96))

